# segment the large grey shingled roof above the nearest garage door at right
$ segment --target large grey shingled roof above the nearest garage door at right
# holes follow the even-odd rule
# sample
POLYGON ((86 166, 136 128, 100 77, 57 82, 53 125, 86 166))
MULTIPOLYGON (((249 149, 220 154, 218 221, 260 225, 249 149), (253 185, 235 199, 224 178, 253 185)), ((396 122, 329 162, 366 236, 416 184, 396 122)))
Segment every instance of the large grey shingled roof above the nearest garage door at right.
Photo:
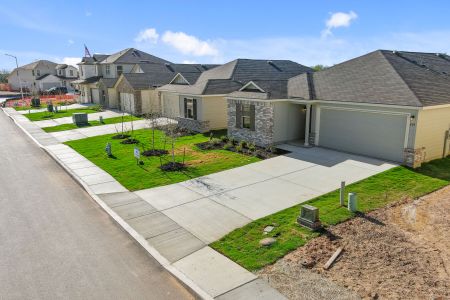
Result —
POLYGON ((450 103, 450 57, 377 50, 288 82, 288 97, 400 106, 450 103))

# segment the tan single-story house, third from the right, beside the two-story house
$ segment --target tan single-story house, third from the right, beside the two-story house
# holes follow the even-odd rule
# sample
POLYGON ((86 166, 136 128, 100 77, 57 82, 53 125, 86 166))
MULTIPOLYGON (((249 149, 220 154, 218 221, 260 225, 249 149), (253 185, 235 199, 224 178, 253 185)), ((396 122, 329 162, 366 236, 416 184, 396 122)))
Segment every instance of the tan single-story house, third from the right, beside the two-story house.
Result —
POLYGON ((131 73, 123 73, 113 87, 118 93, 117 106, 134 114, 161 110, 156 88, 169 83, 193 84, 204 71, 217 65, 140 63, 131 73))

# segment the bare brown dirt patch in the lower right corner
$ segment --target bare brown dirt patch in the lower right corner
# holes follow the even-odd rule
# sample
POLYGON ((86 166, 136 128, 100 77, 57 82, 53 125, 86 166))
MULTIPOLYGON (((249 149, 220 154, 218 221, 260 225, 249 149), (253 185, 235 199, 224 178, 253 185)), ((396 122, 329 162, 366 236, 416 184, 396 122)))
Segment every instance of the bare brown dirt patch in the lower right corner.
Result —
MULTIPOLYGON (((259 273, 291 299, 305 299, 301 284, 307 280, 305 274, 319 276, 313 291, 333 291, 338 285, 362 298, 448 299, 449 215, 450 186, 332 226, 327 236, 259 273), (344 252, 329 270, 323 270, 338 247, 344 252)), ((322 296, 336 299, 333 292, 322 296)))

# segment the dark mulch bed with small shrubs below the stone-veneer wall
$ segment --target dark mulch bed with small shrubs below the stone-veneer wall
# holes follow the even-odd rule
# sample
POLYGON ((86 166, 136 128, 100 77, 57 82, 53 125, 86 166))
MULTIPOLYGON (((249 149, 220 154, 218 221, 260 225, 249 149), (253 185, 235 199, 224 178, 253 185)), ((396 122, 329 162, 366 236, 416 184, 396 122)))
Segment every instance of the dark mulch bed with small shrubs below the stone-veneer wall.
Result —
POLYGON ((242 153, 245 155, 256 156, 260 159, 268 159, 289 153, 289 151, 278 149, 273 146, 260 147, 253 143, 246 141, 237 141, 230 139, 227 136, 221 136, 220 138, 212 138, 209 141, 199 143, 196 145, 202 150, 227 150, 236 153, 242 153))

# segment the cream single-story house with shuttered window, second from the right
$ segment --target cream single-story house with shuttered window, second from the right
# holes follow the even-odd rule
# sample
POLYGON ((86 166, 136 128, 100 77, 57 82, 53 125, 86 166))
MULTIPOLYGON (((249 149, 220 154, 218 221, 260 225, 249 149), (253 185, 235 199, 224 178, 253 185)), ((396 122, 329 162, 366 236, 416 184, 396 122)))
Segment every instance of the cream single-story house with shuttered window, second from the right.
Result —
MULTIPOLYGON (((277 86, 289 78, 311 71, 290 60, 236 59, 203 72, 192 84, 177 76, 161 92, 162 113, 178 119, 180 126, 198 132, 227 128, 227 95, 252 90, 248 82, 271 82, 277 86)), ((275 89, 274 89, 275 90, 275 89)))

